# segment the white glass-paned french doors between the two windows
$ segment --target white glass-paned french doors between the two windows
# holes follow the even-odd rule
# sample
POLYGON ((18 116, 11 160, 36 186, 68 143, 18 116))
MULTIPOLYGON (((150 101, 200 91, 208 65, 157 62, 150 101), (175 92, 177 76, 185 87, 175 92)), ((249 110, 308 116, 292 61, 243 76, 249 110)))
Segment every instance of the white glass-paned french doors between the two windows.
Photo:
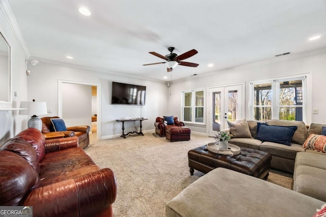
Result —
POLYGON ((228 120, 241 120, 242 84, 209 88, 209 136, 228 128, 228 120))

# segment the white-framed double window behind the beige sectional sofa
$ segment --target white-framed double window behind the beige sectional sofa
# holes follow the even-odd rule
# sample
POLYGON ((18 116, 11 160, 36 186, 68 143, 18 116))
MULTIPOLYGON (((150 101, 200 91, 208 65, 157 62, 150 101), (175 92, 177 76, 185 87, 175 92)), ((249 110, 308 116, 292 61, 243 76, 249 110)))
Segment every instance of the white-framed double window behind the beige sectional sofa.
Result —
POLYGON ((305 121, 306 77, 250 84, 251 119, 305 121))

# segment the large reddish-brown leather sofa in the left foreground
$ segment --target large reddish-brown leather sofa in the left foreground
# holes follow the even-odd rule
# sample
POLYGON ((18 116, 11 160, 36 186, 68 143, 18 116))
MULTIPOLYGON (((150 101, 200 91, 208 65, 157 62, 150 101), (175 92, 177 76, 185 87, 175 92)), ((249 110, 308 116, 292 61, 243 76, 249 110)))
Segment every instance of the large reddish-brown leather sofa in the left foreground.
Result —
POLYGON ((0 147, 0 205, 33 206, 33 216, 113 216, 117 185, 77 137, 45 140, 26 129, 0 147))

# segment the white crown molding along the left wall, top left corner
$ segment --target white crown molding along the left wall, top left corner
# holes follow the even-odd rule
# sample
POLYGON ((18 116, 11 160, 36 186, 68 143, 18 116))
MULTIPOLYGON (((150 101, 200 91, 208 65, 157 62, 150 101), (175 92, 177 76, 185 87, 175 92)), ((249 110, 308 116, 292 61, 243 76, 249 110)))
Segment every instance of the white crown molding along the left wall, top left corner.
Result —
POLYGON ((0 1, 0 8, 3 11, 9 25, 10 28, 15 36, 15 38, 17 39, 21 49, 23 50, 23 52, 25 53, 26 58, 30 57, 30 51, 26 46, 26 43, 21 35, 20 29, 18 27, 18 24, 16 22, 16 19, 14 17, 14 14, 12 13, 12 10, 9 6, 8 0, 1 0, 0 1))

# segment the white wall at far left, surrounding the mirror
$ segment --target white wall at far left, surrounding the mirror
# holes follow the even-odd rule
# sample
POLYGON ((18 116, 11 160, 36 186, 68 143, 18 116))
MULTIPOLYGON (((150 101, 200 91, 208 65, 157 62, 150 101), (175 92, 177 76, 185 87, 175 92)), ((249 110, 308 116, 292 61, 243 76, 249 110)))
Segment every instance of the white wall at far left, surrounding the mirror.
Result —
MULTIPOLYGON (((25 74, 25 52, 21 48, 7 20, 4 11, 5 1, 0 2, 0 32, 4 35, 11 46, 11 70, 12 88, 11 103, 0 102, 0 108, 17 108, 20 101, 25 101, 27 97, 27 81, 25 74), (14 91, 18 92, 18 97, 14 97, 14 91)), ((8 14, 7 14, 8 16, 8 14)), ((0 78, 2 79, 2 78, 0 78)), ((0 143, 27 128, 27 117, 18 115, 18 111, 0 111, 0 143)))

